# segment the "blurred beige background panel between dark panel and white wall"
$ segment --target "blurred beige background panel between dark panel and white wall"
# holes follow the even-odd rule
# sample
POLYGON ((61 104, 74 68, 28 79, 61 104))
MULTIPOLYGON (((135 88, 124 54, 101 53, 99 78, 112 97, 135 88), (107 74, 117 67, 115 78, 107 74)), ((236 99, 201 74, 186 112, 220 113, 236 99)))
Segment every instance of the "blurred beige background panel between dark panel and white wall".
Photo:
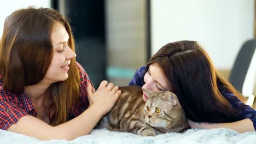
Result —
POLYGON ((147 63, 147 1, 107 0, 107 77, 125 86, 137 68, 147 63))

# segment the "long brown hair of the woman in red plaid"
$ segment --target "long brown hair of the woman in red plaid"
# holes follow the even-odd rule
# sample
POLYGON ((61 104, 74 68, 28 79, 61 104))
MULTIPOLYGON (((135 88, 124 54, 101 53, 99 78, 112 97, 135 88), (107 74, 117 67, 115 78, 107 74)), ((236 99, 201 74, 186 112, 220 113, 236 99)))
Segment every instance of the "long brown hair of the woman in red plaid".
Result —
MULTIPOLYGON (((0 74, 4 89, 22 93, 25 86, 35 85, 44 78, 53 58, 51 32, 56 22, 66 28, 68 46, 75 51, 71 27, 66 18, 54 9, 29 7, 14 11, 5 19, 0 41, 0 74)), ((68 79, 52 83, 44 98, 50 124, 66 122, 78 98, 79 71, 75 59, 72 59, 68 79), (52 116, 50 111, 54 111, 52 116)))

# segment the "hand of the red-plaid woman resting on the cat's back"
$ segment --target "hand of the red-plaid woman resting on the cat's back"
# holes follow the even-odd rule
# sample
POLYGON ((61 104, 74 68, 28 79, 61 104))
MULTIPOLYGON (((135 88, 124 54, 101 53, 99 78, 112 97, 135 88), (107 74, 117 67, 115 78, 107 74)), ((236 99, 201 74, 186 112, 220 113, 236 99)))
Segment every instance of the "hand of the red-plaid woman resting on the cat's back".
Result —
POLYGON ((107 81, 102 81, 95 92, 89 83, 87 92, 90 105, 96 105, 102 115, 112 109, 121 94, 119 87, 114 87, 113 83, 108 83, 107 81))

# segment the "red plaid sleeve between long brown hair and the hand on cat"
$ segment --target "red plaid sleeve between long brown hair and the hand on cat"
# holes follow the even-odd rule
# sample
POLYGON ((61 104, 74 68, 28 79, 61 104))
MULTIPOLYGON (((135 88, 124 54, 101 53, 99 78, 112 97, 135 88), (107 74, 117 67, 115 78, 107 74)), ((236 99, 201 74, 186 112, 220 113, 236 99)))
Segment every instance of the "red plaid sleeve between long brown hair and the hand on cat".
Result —
MULTIPOLYGON (((87 73, 85 72, 82 65, 77 63, 80 75, 80 86, 79 86, 79 105, 82 106, 82 109, 85 109, 89 106, 88 94, 86 91, 88 83, 91 83, 87 73)), ((92 83, 91 83, 92 85, 92 83)), ((93 85, 92 85, 93 86, 93 85)))

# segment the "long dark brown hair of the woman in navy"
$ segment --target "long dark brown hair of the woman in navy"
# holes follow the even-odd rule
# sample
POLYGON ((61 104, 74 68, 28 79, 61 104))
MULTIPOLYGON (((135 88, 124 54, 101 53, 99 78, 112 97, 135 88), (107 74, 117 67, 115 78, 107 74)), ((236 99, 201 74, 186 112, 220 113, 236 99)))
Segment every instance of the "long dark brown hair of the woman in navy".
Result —
MULTIPOLYGON (((221 93, 242 95, 214 68, 210 57, 196 41, 168 43, 155 53, 150 64, 163 70, 187 117, 195 122, 234 122, 237 112, 221 93)), ((147 68, 148 68, 147 67, 147 68)))

